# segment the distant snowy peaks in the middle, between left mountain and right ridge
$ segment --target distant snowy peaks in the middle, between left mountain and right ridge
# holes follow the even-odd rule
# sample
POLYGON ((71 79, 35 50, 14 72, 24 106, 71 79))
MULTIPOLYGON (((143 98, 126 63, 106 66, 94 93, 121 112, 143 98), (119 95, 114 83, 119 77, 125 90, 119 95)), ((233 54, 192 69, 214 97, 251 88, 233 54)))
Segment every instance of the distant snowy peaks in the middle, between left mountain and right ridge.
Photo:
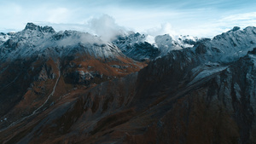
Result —
POLYGON ((154 60, 167 55, 172 50, 191 48, 199 39, 197 37, 177 36, 169 34, 152 37, 146 34, 131 32, 113 41, 122 52, 135 60, 154 60))

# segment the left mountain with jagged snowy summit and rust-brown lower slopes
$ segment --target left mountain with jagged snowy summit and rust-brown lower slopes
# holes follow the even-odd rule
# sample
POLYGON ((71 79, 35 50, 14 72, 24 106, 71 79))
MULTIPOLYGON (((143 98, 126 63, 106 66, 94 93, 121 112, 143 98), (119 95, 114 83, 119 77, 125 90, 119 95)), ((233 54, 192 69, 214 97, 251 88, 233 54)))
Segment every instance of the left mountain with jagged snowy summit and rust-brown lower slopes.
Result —
POLYGON ((43 112, 62 95, 137 72, 112 43, 84 32, 28 23, 0 45, 0 129, 43 112))

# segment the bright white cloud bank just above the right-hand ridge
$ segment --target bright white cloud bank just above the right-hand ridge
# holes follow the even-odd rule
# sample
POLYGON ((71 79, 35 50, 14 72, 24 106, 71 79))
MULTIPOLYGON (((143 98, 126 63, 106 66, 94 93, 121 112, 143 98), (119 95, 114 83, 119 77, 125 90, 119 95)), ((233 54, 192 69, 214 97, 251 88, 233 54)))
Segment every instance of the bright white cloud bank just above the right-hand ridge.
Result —
POLYGON ((227 32, 234 26, 245 28, 256 26, 256 12, 242 14, 223 14, 217 18, 207 20, 191 20, 186 25, 175 26, 177 34, 191 35, 195 37, 214 37, 222 32, 227 32))

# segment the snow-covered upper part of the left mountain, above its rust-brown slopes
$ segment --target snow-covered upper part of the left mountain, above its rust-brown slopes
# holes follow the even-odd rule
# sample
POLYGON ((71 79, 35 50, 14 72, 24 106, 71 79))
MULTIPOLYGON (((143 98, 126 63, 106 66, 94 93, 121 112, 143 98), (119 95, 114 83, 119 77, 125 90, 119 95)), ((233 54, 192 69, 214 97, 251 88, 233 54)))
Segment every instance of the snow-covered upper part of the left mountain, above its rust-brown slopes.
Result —
POLYGON ((31 55, 69 55, 78 53, 97 58, 115 58, 122 55, 112 43, 85 32, 55 32, 50 26, 28 23, 21 32, 16 32, 0 45, 1 60, 23 58, 31 55), (8 39, 9 38, 9 39, 8 39))

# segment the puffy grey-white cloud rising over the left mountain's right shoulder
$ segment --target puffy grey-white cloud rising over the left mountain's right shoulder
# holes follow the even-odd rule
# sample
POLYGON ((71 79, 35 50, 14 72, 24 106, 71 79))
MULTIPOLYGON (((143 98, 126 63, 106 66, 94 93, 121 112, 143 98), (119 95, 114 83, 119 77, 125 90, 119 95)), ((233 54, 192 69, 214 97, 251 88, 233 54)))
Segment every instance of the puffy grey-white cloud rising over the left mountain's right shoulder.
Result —
POLYGON ((116 24, 113 17, 108 14, 103 14, 99 18, 92 18, 88 21, 88 26, 92 32, 107 42, 111 42, 114 37, 125 32, 125 28, 116 24))

